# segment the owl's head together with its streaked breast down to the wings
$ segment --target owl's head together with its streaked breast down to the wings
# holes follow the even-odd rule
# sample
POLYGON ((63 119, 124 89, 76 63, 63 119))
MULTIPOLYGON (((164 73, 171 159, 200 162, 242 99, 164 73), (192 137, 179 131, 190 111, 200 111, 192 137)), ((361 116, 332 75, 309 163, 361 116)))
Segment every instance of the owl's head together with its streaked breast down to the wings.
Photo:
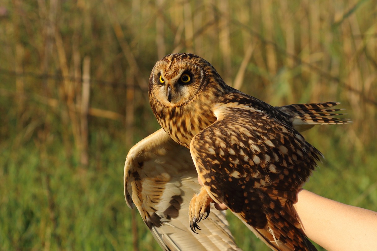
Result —
POLYGON ((216 121, 212 112, 227 85, 215 68, 189 53, 159 60, 149 78, 149 102, 162 128, 182 146, 216 121))

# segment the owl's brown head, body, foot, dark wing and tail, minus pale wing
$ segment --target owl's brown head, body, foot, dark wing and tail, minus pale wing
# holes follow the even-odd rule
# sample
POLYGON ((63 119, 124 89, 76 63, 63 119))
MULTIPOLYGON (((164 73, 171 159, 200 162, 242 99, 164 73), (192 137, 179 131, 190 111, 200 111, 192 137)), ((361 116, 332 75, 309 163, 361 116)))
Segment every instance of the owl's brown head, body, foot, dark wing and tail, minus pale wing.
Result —
POLYGON ((273 107, 229 87, 211 64, 189 53, 156 63, 149 100, 161 127, 190 148, 204 184, 189 206, 194 232, 213 200, 271 249, 315 250, 292 205, 322 154, 299 131, 349 123, 328 117, 337 115, 331 107, 339 103, 273 107))

